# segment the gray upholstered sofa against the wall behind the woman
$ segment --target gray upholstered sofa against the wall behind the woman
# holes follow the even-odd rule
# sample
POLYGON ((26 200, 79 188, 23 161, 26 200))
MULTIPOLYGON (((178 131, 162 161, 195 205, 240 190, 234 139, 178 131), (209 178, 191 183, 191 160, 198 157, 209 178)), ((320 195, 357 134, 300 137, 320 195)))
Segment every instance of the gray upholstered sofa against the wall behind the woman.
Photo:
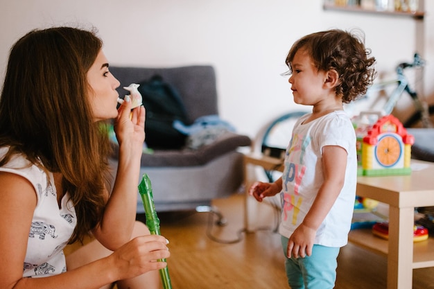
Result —
MULTIPOLYGON (((121 82, 119 94, 130 83, 147 80, 157 74, 177 89, 184 101, 189 121, 200 116, 218 115, 216 74, 209 65, 186 67, 144 68, 110 67, 121 82)), ((235 193, 243 182, 241 146, 250 146, 250 138, 225 132, 215 141, 197 150, 155 150, 141 157, 140 179, 150 177, 157 211, 212 209, 211 200, 235 193)), ((116 150, 115 150, 116 151, 116 150)), ((111 159, 116 166, 116 153, 111 159)), ((116 171, 116 170, 114 170, 116 171)), ((143 213, 141 198, 137 198, 137 212, 143 213)))

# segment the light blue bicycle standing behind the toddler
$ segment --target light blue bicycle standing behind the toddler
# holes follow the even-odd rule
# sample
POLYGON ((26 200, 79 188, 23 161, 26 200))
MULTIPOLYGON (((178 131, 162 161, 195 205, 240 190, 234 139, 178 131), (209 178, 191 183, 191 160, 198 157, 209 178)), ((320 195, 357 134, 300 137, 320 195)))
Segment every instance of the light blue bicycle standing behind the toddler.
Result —
MULTIPOLYGON (((397 65, 395 69, 397 73, 396 79, 382 81, 372 85, 364 96, 361 96, 361 98, 358 98, 358 100, 355 100, 353 103, 345 105, 344 110, 350 116, 356 116, 364 112, 369 112, 369 114, 372 115, 376 114, 377 117, 388 115, 392 113, 398 100, 403 96, 404 92, 406 92, 413 100, 415 112, 406 121, 403 121, 404 127, 411 128, 422 126, 423 128, 433 128, 434 105, 427 105, 426 102, 419 97, 415 89, 410 87, 409 80, 404 74, 405 69, 420 69, 424 67, 424 64, 425 62, 420 55, 415 53, 413 62, 402 62, 397 65), (374 96, 374 94, 376 95, 374 96), (365 106, 363 106, 363 102, 365 102, 365 106), (366 107, 366 103, 369 105, 368 107, 366 107), (376 109, 379 103, 383 103, 383 106, 376 109), (360 110, 360 107, 363 107, 363 109, 360 110), (359 108, 358 112, 356 112, 356 108, 359 108)), ((256 146, 254 150, 260 150, 261 153, 270 157, 280 157, 283 159, 295 121, 306 113, 307 112, 302 111, 289 112, 273 119, 266 126, 263 134, 259 134, 259 137, 257 137, 256 142, 259 143, 260 146, 256 146)), ((276 179, 275 174, 279 174, 273 170, 265 170, 265 173, 270 182, 274 182, 276 179)))

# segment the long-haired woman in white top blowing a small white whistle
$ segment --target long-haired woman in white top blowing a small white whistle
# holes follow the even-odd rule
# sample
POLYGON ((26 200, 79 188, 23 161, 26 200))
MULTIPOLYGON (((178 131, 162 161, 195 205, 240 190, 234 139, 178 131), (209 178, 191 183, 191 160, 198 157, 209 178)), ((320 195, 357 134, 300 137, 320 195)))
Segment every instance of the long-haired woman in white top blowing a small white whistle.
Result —
POLYGON ((167 240, 135 222, 145 111, 130 119, 128 98, 116 110, 108 67, 101 40, 78 28, 33 30, 12 46, 0 98, 0 288, 158 287, 167 240), (119 141, 110 194, 107 119, 119 141), (63 247, 89 234, 65 260, 63 247))

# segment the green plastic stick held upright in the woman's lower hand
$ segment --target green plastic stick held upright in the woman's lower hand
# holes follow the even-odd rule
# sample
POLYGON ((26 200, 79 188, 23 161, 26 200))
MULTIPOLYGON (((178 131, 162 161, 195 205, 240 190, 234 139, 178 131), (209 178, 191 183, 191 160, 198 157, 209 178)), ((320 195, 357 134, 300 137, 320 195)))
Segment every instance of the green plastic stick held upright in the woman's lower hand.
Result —
MULTIPOLYGON (((160 235, 159 233, 159 218, 155 211, 153 200, 153 189, 150 186, 148 174, 144 174, 139 184, 139 193, 143 201, 146 216, 146 225, 149 228, 150 234, 160 235)), ((158 259, 158 261, 166 262, 166 259, 158 259)), ((168 274, 167 266, 159 270, 159 277, 162 279, 164 289, 172 289, 171 277, 168 274)))

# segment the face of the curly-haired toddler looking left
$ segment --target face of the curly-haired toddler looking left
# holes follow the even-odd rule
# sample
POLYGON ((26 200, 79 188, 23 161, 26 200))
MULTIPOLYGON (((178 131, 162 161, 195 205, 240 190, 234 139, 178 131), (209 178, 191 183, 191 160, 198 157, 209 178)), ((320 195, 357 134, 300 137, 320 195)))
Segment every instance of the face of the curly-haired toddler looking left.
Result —
POLYGON ((327 73, 318 71, 306 49, 297 51, 290 65, 293 73, 288 82, 291 84, 294 102, 301 105, 318 104, 326 96, 324 83, 327 73))

